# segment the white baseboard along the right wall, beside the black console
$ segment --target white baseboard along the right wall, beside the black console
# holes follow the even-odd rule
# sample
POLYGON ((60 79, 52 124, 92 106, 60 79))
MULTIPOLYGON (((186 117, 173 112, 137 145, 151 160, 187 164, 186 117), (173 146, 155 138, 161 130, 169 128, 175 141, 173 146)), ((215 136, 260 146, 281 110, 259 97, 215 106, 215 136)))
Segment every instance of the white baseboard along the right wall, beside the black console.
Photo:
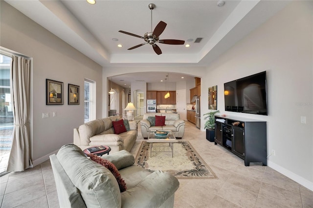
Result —
POLYGON ((271 161, 268 161, 268 166, 273 168, 274 170, 280 172, 281 174, 287 176, 288 178, 290 178, 291 180, 297 182, 298 184, 310 189, 313 191, 313 182, 308 181, 307 179, 291 172, 290 170, 285 169, 282 166, 279 166, 271 161))

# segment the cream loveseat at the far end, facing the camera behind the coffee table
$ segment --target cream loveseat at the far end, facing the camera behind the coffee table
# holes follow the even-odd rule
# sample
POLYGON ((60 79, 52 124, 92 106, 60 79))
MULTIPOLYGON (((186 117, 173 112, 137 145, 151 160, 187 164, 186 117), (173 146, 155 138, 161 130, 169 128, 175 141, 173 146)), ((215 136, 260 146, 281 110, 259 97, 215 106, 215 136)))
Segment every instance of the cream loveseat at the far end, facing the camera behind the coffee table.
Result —
POLYGON ((179 113, 145 113, 140 121, 141 134, 144 139, 148 138, 151 130, 172 130, 174 136, 181 139, 185 132, 185 121, 181 120, 179 113), (165 125, 156 126, 151 124, 149 117, 165 116, 165 125))

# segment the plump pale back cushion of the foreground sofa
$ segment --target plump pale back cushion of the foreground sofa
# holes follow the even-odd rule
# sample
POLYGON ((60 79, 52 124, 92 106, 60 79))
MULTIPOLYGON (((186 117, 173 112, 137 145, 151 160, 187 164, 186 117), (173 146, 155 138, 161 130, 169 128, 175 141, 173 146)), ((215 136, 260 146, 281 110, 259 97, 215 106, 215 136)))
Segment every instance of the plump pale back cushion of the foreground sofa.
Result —
POLYGON ((57 158, 87 207, 121 207, 121 193, 110 170, 89 160, 75 145, 62 146, 57 158))

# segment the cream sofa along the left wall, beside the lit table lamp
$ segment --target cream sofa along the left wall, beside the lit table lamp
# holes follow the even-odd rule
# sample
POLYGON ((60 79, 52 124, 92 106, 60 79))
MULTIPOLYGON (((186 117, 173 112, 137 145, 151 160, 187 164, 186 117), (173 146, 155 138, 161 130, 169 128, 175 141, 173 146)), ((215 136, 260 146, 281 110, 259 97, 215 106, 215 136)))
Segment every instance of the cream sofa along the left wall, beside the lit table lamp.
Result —
POLYGON ((74 128, 73 144, 82 150, 90 146, 105 145, 111 147, 111 152, 120 150, 130 151, 137 139, 137 124, 130 121, 130 130, 120 134, 114 134, 112 121, 120 120, 119 116, 96 119, 74 128))

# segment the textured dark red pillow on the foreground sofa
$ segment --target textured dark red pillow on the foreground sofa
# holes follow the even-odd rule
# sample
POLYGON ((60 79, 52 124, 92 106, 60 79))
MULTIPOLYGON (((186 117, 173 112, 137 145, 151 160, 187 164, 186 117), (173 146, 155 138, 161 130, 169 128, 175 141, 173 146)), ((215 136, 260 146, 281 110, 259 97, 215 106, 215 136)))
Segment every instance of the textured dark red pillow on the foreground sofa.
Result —
POLYGON ((117 168, 110 161, 103 159, 101 157, 98 157, 95 154, 88 154, 88 156, 90 157, 90 160, 108 168, 112 172, 113 176, 116 178, 116 181, 119 186, 119 190, 121 192, 126 191, 127 187, 126 187, 125 181, 122 179, 121 174, 118 172, 117 168))

